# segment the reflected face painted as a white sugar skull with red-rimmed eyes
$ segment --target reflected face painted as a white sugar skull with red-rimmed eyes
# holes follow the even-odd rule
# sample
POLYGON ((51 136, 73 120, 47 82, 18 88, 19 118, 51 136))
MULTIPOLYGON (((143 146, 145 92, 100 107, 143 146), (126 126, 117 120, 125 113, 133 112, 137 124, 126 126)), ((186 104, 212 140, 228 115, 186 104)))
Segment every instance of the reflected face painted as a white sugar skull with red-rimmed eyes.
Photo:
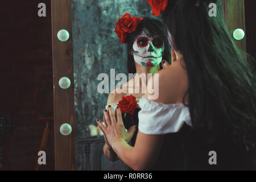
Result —
POLYGON ((154 67, 160 64, 163 51, 163 40, 150 36, 147 30, 143 30, 133 43, 134 61, 144 67, 154 67))

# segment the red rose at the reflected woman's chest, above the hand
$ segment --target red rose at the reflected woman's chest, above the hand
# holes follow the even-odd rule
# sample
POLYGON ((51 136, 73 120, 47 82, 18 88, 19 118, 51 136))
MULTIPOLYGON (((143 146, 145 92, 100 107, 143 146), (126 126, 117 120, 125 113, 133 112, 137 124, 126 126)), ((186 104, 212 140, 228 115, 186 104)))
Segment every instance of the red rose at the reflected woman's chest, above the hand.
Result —
POLYGON ((133 95, 122 97, 122 100, 118 102, 117 106, 120 108, 121 113, 133 115, 137 107, 136 97, 133 95))

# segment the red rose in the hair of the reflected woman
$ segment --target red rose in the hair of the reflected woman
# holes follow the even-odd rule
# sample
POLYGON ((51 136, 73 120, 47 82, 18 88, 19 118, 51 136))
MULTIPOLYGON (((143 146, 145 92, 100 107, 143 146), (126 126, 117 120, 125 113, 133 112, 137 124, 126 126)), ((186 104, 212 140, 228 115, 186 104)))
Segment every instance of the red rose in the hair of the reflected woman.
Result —
POLYGON ((117 23, 115 23, 115 34, 117 34, 118 38, 121 39, 122 45, 126 43, 127 34, 134 32, 138 26, 139 23, 141 23, 143 18, 137 18, 133 16, 131 18, 131 15, 128 13, 125 13, 122 18, 119 18, 117 20, 117 23))

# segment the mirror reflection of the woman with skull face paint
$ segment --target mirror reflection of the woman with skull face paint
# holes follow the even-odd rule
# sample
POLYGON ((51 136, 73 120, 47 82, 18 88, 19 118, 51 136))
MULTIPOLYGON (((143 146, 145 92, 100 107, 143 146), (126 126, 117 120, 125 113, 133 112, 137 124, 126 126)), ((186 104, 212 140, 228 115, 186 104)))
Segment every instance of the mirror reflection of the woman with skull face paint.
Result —
MULTIPOLYGON (((131 18, 130 14, 125 14, 116 24, 117 27, 115 28, 115 32, 121 39, 122 44, 127 43, 128 72, 137 74, 131 80, 123 84, 121 88, 117 88, 109 94, 108 105, 111 105, 114 109, 117 107, 118 101, 122 100, 122 97, 131 97, 130 95, 132 95, 139 101, 139 98, 144 94, 142 90, 143 85, 146 89, 147 80, 139 80, 137 78, 139 78, 140 75, 143 75, 143 73, 147 77, 147 73, 154 74, 158 72, 162 59, 169 60, 169 55, 171 55, 169 51, 170 49, 168 49, 168 40, 163 24, 159 22, 159 20, 152 18, 131 18), (126 28, 127 31, 123 32, 120 30, 121 28, 126 28), (118 92, 121 91, 121 89, 127 90, 127 92, 118 92), (136 92, 135 89, 138 89, 139 92, 136 92)), ((108 106, 106 106, 106 109, 108 109, 108 106)), ((130 142, 131 140, 131 146, 134 146, 138 131, 138 129, 135 131, 134 125, 138 126, 139 110, 140 109, 137 107, 133 114, 122 114, 123 123, 128 130, 126 140, 127 142, 130 142)), ((118 159, 118 156, 113 151, 108 140, 106 140, 104 146, 104 154, 112 161, 118 159)))

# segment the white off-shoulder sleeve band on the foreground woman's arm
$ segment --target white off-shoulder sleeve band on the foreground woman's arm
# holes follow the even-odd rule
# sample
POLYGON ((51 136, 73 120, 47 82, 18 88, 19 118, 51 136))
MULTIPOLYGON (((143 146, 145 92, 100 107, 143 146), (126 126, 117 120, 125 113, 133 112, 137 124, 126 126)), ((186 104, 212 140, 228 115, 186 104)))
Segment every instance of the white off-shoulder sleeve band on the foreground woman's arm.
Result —
POLYGON ((139 107, 138 129, 144 134, 176 133, 184 123, 192 126, 189 108, 184 104, 163 104, 142 96, 139 107))

